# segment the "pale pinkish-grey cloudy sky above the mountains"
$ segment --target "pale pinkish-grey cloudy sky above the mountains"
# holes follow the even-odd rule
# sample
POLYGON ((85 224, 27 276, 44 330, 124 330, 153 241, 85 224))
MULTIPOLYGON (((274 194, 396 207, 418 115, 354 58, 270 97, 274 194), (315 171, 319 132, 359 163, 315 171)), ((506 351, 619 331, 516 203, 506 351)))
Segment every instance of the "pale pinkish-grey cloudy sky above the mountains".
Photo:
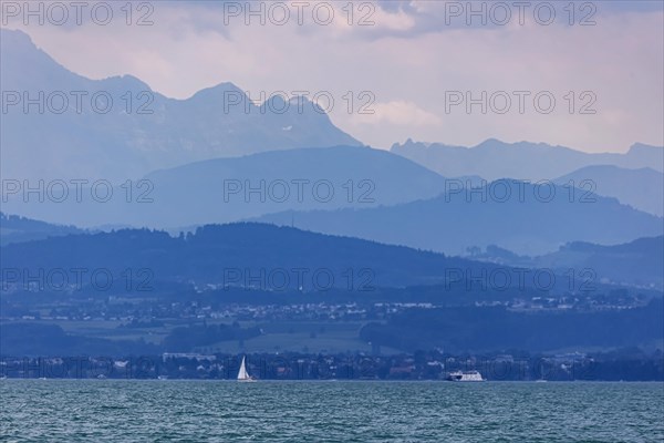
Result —
POLYGON ((376 147, 408 137, 454 145, 527 140, 588 152, 664 144, 661 1, 564 1, 554 17, 547 2, 475 2, 478 16, 465 1, 266 2, 264 24, 260 14, 246 17, 245 1, 143 3, 134 2, 129 25, 125 1, 114 3, 105 25, 103 8, 95 22, 91 6, 81 25, 71 7, 69 20, 53 24, 61 11, 45 4, 42 25, 17 12, 22 1, 3 0, 2 25, 24 30, 76 73, 133 74, 172 97, 221 82, 255 99, 308 91, 326 107, 332 97, 334 124, 376 147), (153 24, 138 25, 141 18, 153 24), (468 94, 478 102, 469 110, 468 94))

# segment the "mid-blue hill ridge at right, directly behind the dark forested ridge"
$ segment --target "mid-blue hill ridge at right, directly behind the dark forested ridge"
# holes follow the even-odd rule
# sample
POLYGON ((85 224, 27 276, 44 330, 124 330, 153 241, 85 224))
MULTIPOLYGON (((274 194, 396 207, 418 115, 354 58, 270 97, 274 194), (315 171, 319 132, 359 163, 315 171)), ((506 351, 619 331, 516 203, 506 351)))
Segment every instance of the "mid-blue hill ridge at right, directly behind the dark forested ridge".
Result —
POLYGON ((614 198, 513 181, 392 207, 281 213, 257 220, 290 225, 292 219, 302 229, 452 255, 488 245, 542 255, 570 241, 611 245, 660 236, 664 230, 661 217, 614 198), (511 190, 506 199, 507 189, 511 190))

